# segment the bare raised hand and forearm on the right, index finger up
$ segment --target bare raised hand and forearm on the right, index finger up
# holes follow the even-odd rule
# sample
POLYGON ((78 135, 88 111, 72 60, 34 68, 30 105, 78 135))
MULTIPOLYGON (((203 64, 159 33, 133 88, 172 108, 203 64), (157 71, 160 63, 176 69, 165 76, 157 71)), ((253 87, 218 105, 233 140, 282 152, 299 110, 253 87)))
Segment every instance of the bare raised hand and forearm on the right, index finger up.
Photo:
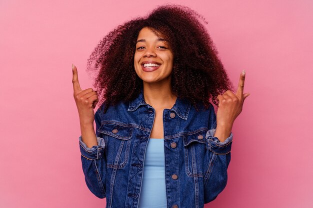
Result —
POLYGON ((229 137, 232 124, 242 111, 243 101, 250 93, 243 93, 245 71, 240 74, 237 91, 235 93, 227 90, 222 95, 218 95, 218 109, 216 112, 216 132, 215 137, 223 142, 229 137))

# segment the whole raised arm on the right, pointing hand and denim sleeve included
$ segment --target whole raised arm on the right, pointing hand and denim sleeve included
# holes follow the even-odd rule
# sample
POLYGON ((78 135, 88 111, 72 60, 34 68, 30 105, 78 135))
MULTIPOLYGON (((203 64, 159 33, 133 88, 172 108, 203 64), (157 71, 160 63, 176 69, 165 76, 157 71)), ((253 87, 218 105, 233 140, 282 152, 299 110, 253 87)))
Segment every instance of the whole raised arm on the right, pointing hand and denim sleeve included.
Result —
POLYGON ((211 126, 205 137, 210 162, 204 177, 204 203, 214 200, 227 183, 227 168, 232 144, 231 128, 242 110, 244 99, 249 96, 249 93, 243 94, 244 78, 245 72, 242 71, 235 93, 227 90, 224 94, 217 96, 219 104, 216 116, 213 107, 210 106, 211 126))

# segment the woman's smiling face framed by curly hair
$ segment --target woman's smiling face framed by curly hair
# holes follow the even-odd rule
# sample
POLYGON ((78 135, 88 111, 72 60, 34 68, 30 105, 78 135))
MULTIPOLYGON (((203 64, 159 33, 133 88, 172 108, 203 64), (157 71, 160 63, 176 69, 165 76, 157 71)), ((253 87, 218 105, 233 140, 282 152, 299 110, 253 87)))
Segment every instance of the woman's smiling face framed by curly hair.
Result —
POLYGON ((134 68, 140 79, 146 83, 170 82, 172 66, 173 54, 168 42, 149 28, 142 28, 134 54, 134 68))

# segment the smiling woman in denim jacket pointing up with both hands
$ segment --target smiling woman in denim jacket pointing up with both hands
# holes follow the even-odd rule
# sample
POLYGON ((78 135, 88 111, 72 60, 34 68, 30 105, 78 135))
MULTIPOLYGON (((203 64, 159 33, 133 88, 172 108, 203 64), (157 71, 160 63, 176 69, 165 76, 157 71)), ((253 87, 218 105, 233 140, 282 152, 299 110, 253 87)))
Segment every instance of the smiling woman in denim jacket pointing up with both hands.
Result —
POLYGON ((202 208, 226 186, 231 128, 249 94, 244 71, 229 90, 199 17, 165 5, 119 25, 88 61, 97 91, 81 90, 72 67, 82 169, 107 208, 202 208))

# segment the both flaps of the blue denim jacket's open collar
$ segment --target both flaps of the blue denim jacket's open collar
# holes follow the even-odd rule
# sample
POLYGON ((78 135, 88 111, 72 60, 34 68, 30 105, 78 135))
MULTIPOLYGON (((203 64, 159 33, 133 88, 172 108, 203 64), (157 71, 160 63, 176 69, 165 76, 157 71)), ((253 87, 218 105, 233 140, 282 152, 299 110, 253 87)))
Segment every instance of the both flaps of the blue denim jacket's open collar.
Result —
MULTIPOLYGON (((145 101, 143 97, 143 90, 141 89, 140 94, 137 98, 129 102, 128 112, 132 112, 137 110, 141 105, 147 105, 149 106, 145 101)), ((189 111, 190 111, 191 103, 187 100, 180 99, 179 96, 176 99, 175 104, 170 109, 174 111, 177 116, 179 116, 183 120, 187 120, 189 111)))

